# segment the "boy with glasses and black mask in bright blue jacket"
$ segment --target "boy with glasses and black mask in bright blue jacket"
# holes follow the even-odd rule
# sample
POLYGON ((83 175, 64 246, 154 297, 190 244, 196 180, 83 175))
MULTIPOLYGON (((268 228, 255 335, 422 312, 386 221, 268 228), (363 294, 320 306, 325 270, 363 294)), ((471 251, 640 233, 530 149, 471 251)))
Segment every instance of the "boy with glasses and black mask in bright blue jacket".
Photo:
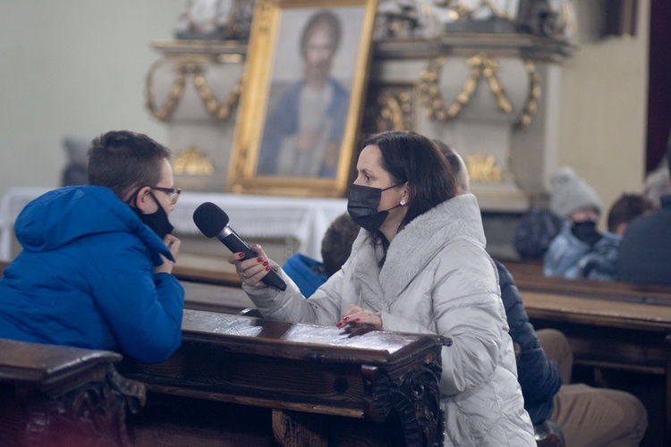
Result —
POLYGON ((146 135, 107 132, 89 148, 88 185, 49 191, 21 211, 23 249, 0 279, 0 337, 146 363, 180 346, 169 156, 146 135))

